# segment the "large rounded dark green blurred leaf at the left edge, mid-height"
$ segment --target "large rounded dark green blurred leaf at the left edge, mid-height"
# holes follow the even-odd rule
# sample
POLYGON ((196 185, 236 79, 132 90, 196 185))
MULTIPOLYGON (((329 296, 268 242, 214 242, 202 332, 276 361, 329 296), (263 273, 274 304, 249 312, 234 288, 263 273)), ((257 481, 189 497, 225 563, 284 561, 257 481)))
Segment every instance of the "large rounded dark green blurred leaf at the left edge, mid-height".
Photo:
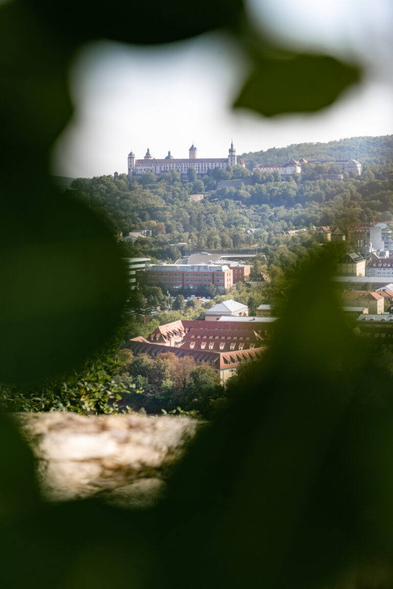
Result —
POLYGON ((127 293, 105 221, 50 185, 37 193, 27 201, 14 186, 16 200, 3 201, 0 382, 34 382, 80 365, 112 335, 127 293))

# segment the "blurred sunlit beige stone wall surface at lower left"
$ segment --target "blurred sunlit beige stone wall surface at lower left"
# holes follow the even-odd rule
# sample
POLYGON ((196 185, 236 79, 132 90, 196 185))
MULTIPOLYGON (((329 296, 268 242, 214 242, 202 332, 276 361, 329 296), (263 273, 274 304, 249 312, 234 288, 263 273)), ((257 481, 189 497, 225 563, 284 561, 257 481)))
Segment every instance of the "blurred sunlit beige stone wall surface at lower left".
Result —
POLYGON ((17 413, 37 458, 45 498, 103 497, 148 506, 165 488, 167 469, 200 422, 187 417, 17 413))

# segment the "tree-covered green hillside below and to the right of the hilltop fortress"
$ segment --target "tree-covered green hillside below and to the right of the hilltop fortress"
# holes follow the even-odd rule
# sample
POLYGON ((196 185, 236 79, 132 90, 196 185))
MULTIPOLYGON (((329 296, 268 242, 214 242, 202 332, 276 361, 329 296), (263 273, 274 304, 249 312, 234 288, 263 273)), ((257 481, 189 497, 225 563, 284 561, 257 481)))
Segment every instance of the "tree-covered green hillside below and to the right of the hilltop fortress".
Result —
POLYGON ((285 148, 287 151, 276 150, 276 155, 280 160, 301 155, 322 160, 338 155, 333 151, 340 144, 349 150, 345 157, 361 161, 361 176, 326 178, 323 169, 315 166, 308 180, 293 174, 283 182, 278 173, 256 173, 236 187, 217 190, 216 181, 223 174, 229 178, 239 175, 236 168, 202 178, 190 174, 187 182, 180 182, 176 173, 162 177, 147 173, 130 183, 122 174, 115 179, 79 178, 69 194, 103 212, 114 234, 151 231, 151 237, 123 244, 125 257, 148 256, 167 262, 192 250, 253 252, 256 246, 277 246, 287 230, 306 228, 311 231, 310 239, 313 227, 321 225, 346 230, 393 220, 393 167, 387 164, 391 136, 316 144, 314 151, 307 152, 305 145, 311 144, 299 144, 285 148), (201 192, 205 193, 203 200, 190 202, 190 194, 201 192))

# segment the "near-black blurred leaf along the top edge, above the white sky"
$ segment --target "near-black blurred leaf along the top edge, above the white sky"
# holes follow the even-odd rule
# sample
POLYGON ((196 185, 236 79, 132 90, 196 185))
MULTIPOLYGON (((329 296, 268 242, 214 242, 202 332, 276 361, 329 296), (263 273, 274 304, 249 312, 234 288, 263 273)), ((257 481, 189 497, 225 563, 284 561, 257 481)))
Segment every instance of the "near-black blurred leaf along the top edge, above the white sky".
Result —
POLYGON ((152 0, 148 12, 143 2, 114 0, 109 14, 106 4, 86 0, 81 10, 80 2, 70 0, 59 18, 50 0, 24 0, 23 4, 49 28, 77 43, 100 37, 143 45, 179 41, 216 28, 236 27, 243 11, 242 0, 200 0, 197 9, 183 0, 170 4, 152 0))

